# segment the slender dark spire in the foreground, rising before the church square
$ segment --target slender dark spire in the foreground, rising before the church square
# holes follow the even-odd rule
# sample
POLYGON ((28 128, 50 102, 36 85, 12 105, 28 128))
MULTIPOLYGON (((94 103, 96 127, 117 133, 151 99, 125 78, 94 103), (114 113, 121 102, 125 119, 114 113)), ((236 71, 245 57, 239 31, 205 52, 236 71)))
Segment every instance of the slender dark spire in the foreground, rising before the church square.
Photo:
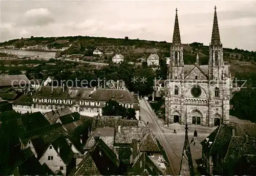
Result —
POLYGON ((190 151, 190 147, 189 147, 187 129, 188 129, 188 127, 187 127, 187 123, 186 123, 185 142, 184 142, 184 147, 183 147, 183 152, 182 152, 179 175, 195 175, 193 161, 192 161, 192 157, 191 157, 191 151, 190 151))

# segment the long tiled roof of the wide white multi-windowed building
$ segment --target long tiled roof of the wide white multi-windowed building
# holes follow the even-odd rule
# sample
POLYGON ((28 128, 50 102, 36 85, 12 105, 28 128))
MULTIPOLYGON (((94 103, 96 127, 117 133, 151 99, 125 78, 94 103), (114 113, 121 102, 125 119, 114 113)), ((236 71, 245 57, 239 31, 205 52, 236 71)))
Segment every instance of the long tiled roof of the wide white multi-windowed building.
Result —
POLYGON ((138 103, 138 100, 129 90, 120 89, 96 89, 71 87, 63 92, 62 87, 41 86, 40 91, 34 94, 38 98, 68 98, 77 100, 108 101, 110 99, 124 103, 138 103))

